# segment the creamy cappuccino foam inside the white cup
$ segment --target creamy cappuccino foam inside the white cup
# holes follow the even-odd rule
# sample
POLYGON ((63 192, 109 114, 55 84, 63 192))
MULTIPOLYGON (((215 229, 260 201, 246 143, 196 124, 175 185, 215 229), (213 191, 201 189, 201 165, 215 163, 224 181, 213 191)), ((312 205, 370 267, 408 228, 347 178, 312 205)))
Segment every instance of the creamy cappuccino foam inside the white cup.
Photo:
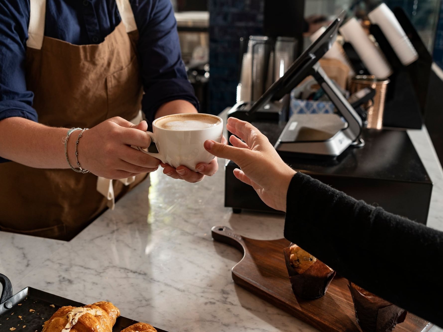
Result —
POLYGON ((217 118, 202 114, 167 116, 155 122, 155 125, 159 128, 181 131, 200 130, 215 127, 218 124, 220 124, 220 120, 217 118))

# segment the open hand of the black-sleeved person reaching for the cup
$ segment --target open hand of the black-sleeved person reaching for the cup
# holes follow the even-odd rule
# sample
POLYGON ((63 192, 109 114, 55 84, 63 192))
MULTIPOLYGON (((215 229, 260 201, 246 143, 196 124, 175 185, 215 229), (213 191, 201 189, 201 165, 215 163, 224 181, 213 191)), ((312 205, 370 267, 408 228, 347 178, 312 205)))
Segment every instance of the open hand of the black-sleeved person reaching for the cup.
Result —
POLYGON ((226 128, 244 142, 235 136, 229 139, 233 146, 208 140, 206 150, 235 162, 241 168, 234 170, 237 179, 252 185, 266 205, 286 211, 286 193, 295 171, 285 164, 268 138, 252 124, 229 118, 226 128))

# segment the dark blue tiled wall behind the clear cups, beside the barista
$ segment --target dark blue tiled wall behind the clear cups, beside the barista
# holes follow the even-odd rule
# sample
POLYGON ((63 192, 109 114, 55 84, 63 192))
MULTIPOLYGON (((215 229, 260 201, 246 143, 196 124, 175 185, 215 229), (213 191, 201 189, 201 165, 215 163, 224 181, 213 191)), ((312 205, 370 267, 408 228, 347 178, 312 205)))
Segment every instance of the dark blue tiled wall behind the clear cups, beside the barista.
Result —
POLYGON ((264 0, 209 0, 210 113, 235 104, 240 37, 263 34, 264 0))

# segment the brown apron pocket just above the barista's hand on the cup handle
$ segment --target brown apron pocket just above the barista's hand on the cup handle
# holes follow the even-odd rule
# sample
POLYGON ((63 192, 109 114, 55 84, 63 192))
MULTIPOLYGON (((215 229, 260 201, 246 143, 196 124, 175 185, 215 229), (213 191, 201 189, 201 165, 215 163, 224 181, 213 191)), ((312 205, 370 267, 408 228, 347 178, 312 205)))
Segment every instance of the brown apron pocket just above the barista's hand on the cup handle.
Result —
POLYGON ((108 116, 131 120, 141 108, 143 88, 137 57, 128 66, 106 77, 108 116))

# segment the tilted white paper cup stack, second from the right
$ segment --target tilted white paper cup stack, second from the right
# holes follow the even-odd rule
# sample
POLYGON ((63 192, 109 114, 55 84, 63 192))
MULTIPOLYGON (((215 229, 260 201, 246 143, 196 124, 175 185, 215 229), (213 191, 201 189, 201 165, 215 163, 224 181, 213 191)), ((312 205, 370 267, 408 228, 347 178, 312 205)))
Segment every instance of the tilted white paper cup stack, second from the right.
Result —
POLYGON ((343 38, 350 42, 369 73, 378 79, 385 79, 392 74, 391 66, 381 51, 369 39, 368 35, 354 17, 340 28, 343 38))

